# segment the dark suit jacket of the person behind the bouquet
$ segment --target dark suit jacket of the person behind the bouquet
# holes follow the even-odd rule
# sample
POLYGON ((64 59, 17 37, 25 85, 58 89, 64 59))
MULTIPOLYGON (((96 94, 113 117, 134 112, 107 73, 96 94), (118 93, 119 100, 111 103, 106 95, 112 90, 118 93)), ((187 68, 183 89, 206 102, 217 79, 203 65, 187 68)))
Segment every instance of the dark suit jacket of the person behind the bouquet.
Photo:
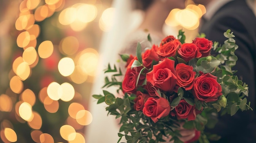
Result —
MULTIPOLYGON (((211 133, 222 136, 212 143, 256 143, 255 88, 256 88, 256 17, 245 0, 234 0, 221 7, 211 18, 202 24, 200 33, 205 33, 209 40, 224 44, 227 40, 223 33, 231 29, 238 45, 235 54, 238 56, 235 75, 249 86, 248 101, 254 111, 238 112, 234 116, 219 117, 219 122, 211 133)), ((212 52, 212 54, 215 54, 212 52)))

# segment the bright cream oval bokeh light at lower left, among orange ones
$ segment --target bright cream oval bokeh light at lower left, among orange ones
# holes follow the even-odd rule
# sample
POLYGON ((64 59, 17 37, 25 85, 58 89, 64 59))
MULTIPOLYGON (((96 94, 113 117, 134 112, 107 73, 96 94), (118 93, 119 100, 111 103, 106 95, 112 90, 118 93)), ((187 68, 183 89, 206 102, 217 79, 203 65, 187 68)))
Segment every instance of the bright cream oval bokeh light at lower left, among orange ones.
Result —
POLYGON ((27 102, 23 102, 20 104, 19 114, 20 117, 25 121, 31 121, 34 117, 34 114, 32 113, 32 107, 27 102))

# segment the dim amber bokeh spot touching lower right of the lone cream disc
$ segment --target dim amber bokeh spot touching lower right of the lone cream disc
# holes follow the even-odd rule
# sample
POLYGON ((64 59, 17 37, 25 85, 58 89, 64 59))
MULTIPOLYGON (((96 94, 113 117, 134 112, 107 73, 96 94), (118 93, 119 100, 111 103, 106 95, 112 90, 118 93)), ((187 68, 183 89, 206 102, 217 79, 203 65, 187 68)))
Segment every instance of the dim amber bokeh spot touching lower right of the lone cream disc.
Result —
POLYGON ((83 72, 81 66, 75 66, 74 72, 70 75, 71 80, 76 84, 82 84, 88 78, 88 75, 83 72))

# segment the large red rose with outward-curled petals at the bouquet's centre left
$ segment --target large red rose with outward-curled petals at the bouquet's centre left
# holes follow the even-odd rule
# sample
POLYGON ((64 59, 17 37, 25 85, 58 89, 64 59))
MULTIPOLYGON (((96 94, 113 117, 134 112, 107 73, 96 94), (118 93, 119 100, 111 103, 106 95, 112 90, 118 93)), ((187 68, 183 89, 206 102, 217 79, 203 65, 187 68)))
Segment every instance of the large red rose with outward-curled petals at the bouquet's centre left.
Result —
POLYGON ((153 70, 146 74, 147 81, 164 91, 173 90, 177 81, 174 64, 173 60, 165 58, 159 64, 154 65, 153 70))

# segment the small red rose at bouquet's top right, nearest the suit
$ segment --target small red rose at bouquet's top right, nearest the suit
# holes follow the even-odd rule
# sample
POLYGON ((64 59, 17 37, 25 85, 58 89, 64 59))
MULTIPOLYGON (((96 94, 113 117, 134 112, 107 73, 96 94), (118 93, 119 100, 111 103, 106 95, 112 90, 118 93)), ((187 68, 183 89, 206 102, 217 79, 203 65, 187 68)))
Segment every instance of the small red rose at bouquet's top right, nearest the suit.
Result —
POLYGON ((213 42, 206 39, 206 38, 200 38, 196 37, 195 40, 193 40, 193 43, 198 46, 200 53, 202 54, 202 57, 207 57, 210 55, 211 48, 213 46, 213 42))

